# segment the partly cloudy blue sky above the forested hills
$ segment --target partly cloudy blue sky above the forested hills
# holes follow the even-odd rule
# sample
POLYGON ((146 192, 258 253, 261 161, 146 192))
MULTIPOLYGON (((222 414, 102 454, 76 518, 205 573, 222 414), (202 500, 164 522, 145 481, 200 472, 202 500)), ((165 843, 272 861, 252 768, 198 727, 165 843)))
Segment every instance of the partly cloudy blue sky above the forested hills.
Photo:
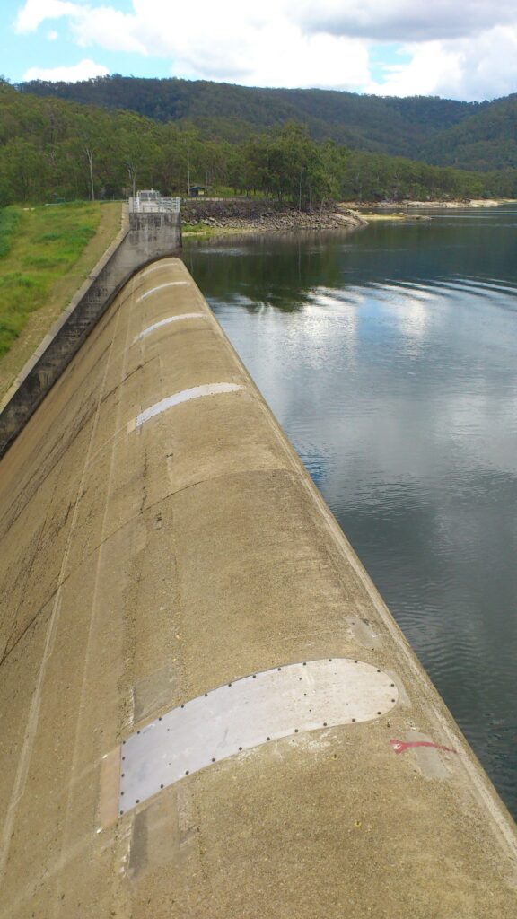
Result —
POLYGON ((517 91, 517 0, 0 0, 0 74, 178 76, 482 100, 517 91))

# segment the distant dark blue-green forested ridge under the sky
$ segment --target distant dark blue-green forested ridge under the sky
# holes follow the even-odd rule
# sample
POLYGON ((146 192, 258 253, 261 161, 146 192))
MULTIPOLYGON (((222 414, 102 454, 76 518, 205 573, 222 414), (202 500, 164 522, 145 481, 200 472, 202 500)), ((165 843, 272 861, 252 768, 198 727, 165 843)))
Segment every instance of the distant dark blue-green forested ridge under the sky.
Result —
POLYGON ((517 167, 517 94, 477 103, 118 75, 82 83, 36 81, 18 89, 125 108, 156 121, 190 123, 214 140, 242 141, 294 120, 306 125, 315 140, 355 150, 480 171, 517 167))

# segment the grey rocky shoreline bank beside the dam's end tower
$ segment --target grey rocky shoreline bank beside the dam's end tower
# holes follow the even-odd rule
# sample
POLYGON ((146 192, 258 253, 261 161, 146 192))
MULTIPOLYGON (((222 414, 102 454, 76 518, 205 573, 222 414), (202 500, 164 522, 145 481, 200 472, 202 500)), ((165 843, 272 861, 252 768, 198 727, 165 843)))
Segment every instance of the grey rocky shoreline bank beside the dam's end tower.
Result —
POLYGON ((279 207, 259 199, 190 199, 182 201, 184 235, 213 233, 291 233, 298 230, 347 230, 368 221, 343 205, 317 210, 279 207))

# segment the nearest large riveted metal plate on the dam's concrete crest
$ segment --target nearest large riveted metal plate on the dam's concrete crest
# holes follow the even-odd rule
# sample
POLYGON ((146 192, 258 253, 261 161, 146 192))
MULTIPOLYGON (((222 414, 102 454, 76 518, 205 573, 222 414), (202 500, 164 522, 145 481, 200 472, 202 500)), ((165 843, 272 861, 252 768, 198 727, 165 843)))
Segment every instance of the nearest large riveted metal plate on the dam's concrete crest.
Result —
POLYGON ((397 698, 391 676, 348 658, 289 664, 220 686, 122 743, 120 813, 242 750, 379 718, 397 698))

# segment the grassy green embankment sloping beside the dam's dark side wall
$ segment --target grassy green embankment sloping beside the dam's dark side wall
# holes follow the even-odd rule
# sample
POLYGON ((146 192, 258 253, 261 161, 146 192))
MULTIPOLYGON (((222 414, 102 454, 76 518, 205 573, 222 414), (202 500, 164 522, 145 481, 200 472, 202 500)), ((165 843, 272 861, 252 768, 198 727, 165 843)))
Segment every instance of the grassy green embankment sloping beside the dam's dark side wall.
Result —
POLYGON ((120 228, 120 204, 0 210, 0 405, 120 228))

